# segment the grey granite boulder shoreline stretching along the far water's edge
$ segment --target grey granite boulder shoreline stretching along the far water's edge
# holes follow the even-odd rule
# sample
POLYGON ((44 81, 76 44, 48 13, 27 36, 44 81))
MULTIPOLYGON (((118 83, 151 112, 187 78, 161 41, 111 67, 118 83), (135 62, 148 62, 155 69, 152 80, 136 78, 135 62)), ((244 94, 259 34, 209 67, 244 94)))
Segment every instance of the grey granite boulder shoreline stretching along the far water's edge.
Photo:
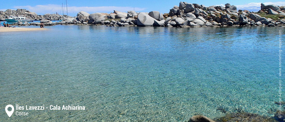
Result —
MULTIPOLYGON (((37 15, 25 9, 0 11, 0 18, 10 15, 24 15, 31 20, 40 20, 44 25, 90 24, 120 26, 160 26, 160 27, 224 27, 224 26, 267 26, 285 27, 285 7, 276 5, 260 6, 257 13, 238 10, 229 3, 223 6, 209 6, 180 2, 169 13, 151 11, 149 13, 135 11, 113 13, 86 13, 80 11, 76 17, 66 17, 58 14, 37 15), (262 17, 263 16, 263 17, 262 17), (264 17, 265 16, 265 17, 264 17), (267 17, 267 18, 266 18, 267 17), (271 18, 270 18, 271 17, 271 18), (61 22, 50 20, 63 19, 61 22)), ((40 23, 14 23, 12 25, 37 25, 40 23)))

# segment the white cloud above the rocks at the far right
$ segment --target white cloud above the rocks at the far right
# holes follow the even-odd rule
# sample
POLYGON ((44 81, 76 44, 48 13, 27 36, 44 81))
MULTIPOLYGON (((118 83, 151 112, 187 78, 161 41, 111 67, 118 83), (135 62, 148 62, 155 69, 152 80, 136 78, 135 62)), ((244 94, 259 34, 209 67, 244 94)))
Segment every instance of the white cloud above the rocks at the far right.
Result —
MULTIPOLYGON (((235 5, 237 7, 237 10, 248 10, 248 11, 259 11, 260 10, 260 5, 261 3, 249 3, 246 5, 235 5)), ((285 5, 285 2, 266 2, 264 5, 277 5, 277 6, 282 6, 285 5)))

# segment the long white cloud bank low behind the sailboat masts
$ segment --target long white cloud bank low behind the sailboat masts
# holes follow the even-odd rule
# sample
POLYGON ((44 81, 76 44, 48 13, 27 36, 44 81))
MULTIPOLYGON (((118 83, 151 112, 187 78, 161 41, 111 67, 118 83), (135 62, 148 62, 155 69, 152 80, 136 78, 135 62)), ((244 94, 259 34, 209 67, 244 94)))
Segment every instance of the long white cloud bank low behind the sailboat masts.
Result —
MULTIPOLYGON (((43 15, 46 13, 58 13, 62 14, 62 7, 61 5, 55 5, 55 4, 48 4, 48 5, 36 5, 36 6, 14 6, 15 9, 27 9, 31 12, 35 12, 38 15, 43 15)), ((146 8, 138 8, 135 7, 135 11, 143 11, 146 8)), ((76 6, 70 6, 68 7, 68 15, 76 16, 79 11, 85 11, 87 13, 111 13, 114 12, 114 10, 121 11, 121 12, 127 12, 134 10, 133 7, 117 7, 117 6, 101 6, 101 7, 76 7, 76 6)), ((6 11, 6 10, 5 10, 6 11)), ((66 14, 66 8, 64 10, 64 14, 66 14)))

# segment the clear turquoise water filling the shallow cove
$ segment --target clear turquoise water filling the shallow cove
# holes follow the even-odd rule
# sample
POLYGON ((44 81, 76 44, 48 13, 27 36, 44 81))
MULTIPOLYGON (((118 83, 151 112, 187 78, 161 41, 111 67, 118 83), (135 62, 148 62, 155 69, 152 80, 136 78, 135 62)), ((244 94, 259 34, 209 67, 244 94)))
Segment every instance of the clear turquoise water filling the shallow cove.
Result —
POLYGON ((1 121, 187 121, 224 116, 219 106, 266 116, 278 107, 284 28, 45 28, 0 33, 1 121), (9 118, 8 104, 86 110, 9 118))

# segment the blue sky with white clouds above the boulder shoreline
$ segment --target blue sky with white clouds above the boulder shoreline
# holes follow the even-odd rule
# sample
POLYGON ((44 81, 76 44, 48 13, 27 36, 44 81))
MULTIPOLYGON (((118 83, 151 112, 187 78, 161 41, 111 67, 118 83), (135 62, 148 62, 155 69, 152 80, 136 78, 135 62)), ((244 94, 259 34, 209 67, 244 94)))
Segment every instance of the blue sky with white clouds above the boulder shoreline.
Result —
MULTIPOLYGON (((36 12, 38 15, 43 15, 45 13, 60 13, 61 5, 65 0, 13 0, 13 2, 1 3, 0 10, 6 11, 6 9, 27 9, 31 12, 36 12)), ((76 16, 79 11, 86 11, 87 13, 111 13, 113 10, 127 12, 133 10, 135 7, 136 12, 150 12, 159 11, 160 13, 168 13, 174 5, 179 5, 180 0, 144 0, 144 1, 111 1, 111 0, 93 0, 93 1, 78 1, 78 0, 68 0, 68 15, 76 16)), ((274 0, 204 0, 204 1, 185 1, 188 3, 197 3, 199 5, 203 4, 205 6, 211 5, 225 5, 230 3, 231 5, 236 5, 237 9, 246 9, 249 11, 258 11, 260 9, 260 3, 275 4, 275 5, 285 5, 285 1, 274 1, 274 0)), ((66 14, 66 10, 65 10, 66 14)))

